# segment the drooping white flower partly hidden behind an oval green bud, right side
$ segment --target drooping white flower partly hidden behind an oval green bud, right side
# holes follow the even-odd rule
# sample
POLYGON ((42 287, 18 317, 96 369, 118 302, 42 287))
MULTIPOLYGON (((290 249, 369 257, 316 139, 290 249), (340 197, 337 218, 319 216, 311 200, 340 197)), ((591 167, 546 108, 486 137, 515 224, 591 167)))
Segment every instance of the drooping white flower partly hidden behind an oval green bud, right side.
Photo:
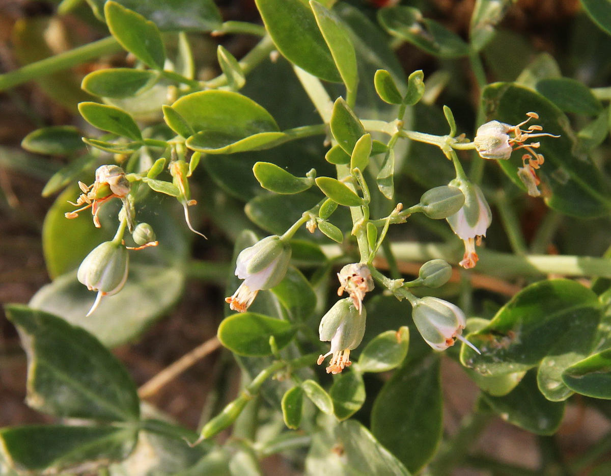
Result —
POLYGON ((463 261, 459 264, 469 269, 474 267, 479 259, 475 244, 481 245, 481 237, 486 236, 492 214, 480 187, 464 179, 454 179, 450 185, 460 188, 465 197, 463 207, 446 220, 452 231, 464 242, 463 261))

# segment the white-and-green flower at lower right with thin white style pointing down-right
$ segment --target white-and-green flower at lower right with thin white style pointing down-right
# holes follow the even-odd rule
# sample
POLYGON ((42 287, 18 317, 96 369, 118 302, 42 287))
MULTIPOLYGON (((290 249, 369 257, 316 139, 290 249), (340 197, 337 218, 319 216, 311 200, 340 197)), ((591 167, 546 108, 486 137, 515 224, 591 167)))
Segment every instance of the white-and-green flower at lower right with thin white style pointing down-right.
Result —
POLYGON ((480 354, 480 351, 461 335, 466 318, 463 311, 451 302, 425 296, 412 304, 412 318, 422 338, 436 351, 444 351, 458 339, 480 354))

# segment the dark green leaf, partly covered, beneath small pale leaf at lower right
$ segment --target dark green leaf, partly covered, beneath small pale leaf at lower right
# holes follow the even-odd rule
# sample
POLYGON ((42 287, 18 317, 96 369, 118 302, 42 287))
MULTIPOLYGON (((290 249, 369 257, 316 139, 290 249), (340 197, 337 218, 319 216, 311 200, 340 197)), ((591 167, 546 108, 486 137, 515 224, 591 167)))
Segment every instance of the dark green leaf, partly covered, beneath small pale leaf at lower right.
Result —
POLYGON ((564 402, 549 401, 541 395, 532 372, 507 395, 482 393, 482 397, 503 420, 536 434, 554 434, 565 411, 564 402))

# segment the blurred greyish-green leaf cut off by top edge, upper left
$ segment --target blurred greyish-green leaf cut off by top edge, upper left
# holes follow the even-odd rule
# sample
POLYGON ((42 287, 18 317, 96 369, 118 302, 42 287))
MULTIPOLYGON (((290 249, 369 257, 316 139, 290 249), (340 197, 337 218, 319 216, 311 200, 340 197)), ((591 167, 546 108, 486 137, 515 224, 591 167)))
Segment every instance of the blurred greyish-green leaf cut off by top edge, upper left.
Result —
MULTIPOLYGON (((87 3, 104 20, 106 0, 87 0, 87 3)), ((162 30, 213 31, 222 24, 221 12, 214 0, 118 0, 117 3, 140 13, 162 30)))

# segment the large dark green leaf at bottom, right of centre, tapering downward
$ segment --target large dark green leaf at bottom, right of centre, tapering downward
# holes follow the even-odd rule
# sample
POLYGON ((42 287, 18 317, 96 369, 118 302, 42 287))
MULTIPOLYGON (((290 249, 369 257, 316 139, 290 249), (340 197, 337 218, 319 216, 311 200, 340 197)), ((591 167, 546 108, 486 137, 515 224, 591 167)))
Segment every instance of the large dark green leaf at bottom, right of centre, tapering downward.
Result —
POLYGON ((371 412, 372 433, 412 472, 433 456, 442 422, 439 359, 434 355, 395 371, 371 412))

